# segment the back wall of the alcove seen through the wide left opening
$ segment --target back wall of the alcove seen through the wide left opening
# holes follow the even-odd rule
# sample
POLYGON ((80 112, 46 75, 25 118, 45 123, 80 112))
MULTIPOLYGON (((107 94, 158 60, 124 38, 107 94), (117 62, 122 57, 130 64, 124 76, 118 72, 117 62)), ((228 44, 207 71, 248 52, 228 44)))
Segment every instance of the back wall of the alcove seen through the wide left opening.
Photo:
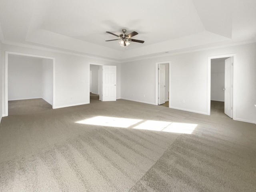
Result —
POLYGON ((42 96, 42 59, 10 55, 8 58, 8 101, 42 96))

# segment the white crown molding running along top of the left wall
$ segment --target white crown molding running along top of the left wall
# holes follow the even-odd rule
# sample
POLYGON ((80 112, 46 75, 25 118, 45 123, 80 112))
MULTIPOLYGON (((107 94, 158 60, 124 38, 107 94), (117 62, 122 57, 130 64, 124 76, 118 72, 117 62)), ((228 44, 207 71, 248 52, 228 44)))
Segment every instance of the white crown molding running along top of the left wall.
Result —
POLYGON ((62 51, 62 50, 52 49, 52 48, 44 48, 41 46, 34 46, 34 45, 28 45, 28 44, 22 44, 22 43, 17 43, 17 42, 10 42, 10 41, 3 41, 2 44, 19 46, 19 47, 24 47, 24 48, 31 48, 31 49, 38 49, 38 50, 42 50, 42 51, 50 51, 50 52, 54 52, 54 53, 62 53, 62 54, 66 54, 66 55, 74 55, 74 56, 85 57, 85 58, 90 58, 90 59, 98 59, 98 60, 102 60, 102 61, 110 61, 110 62, 120 63, 120 61, 101 58, 100 56, 97 57, 97 56, 86 55, 86 53, 84 53, 84 54, 72 53, 69 51, 62 51))

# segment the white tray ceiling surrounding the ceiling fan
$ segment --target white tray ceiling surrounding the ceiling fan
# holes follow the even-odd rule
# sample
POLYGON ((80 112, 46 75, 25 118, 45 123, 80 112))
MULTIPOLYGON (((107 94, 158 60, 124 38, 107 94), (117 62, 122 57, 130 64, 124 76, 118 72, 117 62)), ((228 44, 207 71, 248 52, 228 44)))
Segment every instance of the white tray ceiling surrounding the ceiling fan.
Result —
POLYGON ((1 0, 0 40, 120 61, 256 42, 256 1, 1 0), (105 42, 122 29, 145 43, 105 42))

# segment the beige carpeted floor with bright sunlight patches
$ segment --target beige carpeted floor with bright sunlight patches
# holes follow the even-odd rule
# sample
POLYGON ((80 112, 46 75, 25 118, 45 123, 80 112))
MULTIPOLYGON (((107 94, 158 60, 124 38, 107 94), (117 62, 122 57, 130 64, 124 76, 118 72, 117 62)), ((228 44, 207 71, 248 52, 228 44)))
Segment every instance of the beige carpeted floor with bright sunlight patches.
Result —
POLYGON ((255 138, 255 124, 233 121, 217 101, 210 116, 96 96, 62 109, 10 101, 0 191, 252 192, 255 138))

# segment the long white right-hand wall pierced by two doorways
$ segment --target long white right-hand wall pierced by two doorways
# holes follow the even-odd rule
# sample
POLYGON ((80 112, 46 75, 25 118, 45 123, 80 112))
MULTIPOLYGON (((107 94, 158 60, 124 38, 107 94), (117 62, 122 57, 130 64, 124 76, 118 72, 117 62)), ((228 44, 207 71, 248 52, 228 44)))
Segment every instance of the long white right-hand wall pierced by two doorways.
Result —
POLYGON ((231 53, 236 53, 237 58, 234 66, 236 119, 254 122, 255 44, 122 63, 121 98, 155 104, 155 63, 171 61, 170 106, 174 109, 207 114, 208 56, 231 53), (182 100, 185 100, 185 103, 182 103, 182 100))

